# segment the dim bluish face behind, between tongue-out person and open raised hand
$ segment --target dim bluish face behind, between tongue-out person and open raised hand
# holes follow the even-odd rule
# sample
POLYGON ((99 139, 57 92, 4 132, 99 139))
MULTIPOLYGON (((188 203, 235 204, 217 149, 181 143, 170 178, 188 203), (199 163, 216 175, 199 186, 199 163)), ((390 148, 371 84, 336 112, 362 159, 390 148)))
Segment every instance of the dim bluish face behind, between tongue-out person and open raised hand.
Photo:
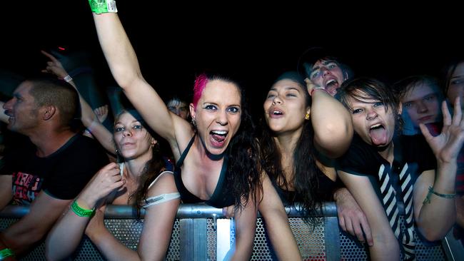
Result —
POLYGON ((435 123, 440 120, 440 101, 430 83, 423 82, 411 87, 401 98, 401 103, 415 127, 420 123, 435 123))

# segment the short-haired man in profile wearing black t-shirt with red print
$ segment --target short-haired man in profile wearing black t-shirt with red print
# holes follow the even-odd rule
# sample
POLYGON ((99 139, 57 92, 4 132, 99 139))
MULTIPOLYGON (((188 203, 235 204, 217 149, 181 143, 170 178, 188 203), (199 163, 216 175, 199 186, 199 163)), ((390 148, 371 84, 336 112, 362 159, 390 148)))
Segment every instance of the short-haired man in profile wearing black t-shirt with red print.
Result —
POLYGON ((21 255, 46 235, 108 157, 96 141, 71 130, 79 96, 64 81, 24 81, 3 107, 8 129, 31 141, 7 155, 0 169, 0 210, 11 201, 30 205, 28 214, 0 232, 0 251, 21 255))

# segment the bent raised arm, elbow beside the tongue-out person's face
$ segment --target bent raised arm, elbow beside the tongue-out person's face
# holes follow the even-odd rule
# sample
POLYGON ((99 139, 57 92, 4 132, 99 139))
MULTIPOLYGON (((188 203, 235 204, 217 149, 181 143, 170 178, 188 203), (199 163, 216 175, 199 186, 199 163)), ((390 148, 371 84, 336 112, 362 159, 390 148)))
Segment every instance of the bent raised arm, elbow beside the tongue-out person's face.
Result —
POLYGON ((316 148, 329 158, 340 157, 353 138, 350 113, 323 88, 318 88, 308 78, 305 81, 312 98, 311 123, 316 148))

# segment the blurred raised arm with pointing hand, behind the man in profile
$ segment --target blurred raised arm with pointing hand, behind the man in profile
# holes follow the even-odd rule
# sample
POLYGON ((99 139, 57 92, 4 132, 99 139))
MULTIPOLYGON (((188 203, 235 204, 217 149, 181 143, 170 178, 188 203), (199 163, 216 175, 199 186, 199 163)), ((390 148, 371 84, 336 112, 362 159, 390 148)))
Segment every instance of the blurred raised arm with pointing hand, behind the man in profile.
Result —
MULTIPOLYGON (((68 76, 64 66, 55 56, 47 53, 46 51, 41 51, 41 53, 50 59, 50 61, 47 62, 46 68, 42 70, 42 72, 53 73, 61 79, 68 76)), ((105 126, 103 126, 103 124, 101 124, 101 121, 99 121, 99 118, 95 115, 89 103, 87 103, 84 97, 81 96, 79 88, 77 88, 72 78, 68 78, 66 81, 68 81, 68 83, 76 89, 77 93, 79 93, 82 123, 84 123, 84 126, 86 126, 86 128, 91 131, 92 135, 94 135, 94 137, 99 140, 99 143, 103 145, 106 150, 108 150, 110 153, 114 153, 116 151, 116 147, 113 142, 113 135, 105 126)))

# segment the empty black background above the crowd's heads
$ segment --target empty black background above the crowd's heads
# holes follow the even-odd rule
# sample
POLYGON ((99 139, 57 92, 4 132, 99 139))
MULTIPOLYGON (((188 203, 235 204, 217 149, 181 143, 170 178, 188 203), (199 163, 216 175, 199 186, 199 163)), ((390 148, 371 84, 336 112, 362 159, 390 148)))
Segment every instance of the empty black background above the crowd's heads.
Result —
MULTIPOLYGON (((355 6, 338 6, 336 12, 338 4, 332 2, 317 8, 286 2, 117 3, 143 76, 159 93, 190 93, 198 73, 221 68, 242 76, 258 109, 274 78, 296 69, 298 57, 311 46, 336 48, 356 75, 390 83, 415 73, 438 75, 448 59, 464 50, 463 23, 461 16, 450 14, 453 6, 445 11, 363 6, 370 10, 357 12, 355 6)), ((31 76, 44 68, 41 49, 86 49, 100 88, 114 85, 88 5, 86 0, 5 3, 0 68, 31 76)))

